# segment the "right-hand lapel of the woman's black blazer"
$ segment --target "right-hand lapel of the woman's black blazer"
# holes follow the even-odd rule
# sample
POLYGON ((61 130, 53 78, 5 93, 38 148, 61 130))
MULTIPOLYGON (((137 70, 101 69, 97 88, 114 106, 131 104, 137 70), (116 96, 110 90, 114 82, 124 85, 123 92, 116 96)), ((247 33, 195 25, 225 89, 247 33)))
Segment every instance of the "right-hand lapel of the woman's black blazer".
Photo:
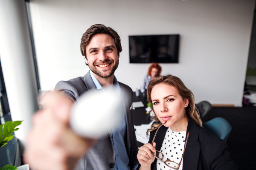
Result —
POLYGON ((200 152, 200 144, 198 142, 199 128, 191 119, 189 119, 186 133, 188 132, 189 139, 187 141, 183 157, 183 170, 197 170, 200 152))

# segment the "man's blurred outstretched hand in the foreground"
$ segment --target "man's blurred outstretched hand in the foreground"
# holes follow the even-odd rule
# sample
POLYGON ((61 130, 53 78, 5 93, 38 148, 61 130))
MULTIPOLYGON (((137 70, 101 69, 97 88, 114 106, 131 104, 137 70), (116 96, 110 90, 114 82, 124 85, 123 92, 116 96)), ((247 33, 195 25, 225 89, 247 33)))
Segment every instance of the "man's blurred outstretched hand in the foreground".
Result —
POLYGON ((33 128, 25 146, 24 160, 36 170, 72 170, 95 139, 77 136, 69 126, 71 99, 48 92, 42 109, 33 116, 33 128))

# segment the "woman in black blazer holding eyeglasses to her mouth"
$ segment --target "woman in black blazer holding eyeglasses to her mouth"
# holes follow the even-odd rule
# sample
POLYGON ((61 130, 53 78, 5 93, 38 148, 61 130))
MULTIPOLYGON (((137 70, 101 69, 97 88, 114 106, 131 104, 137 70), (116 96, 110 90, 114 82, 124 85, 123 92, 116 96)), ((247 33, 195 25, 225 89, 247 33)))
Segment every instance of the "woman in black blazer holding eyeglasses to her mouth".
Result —
POLYGON ((226 142, 202 127, 194 95, 178 77, 151 80, 147 93, 155 122, 137 154, 137 170, 238 169, 226 142))

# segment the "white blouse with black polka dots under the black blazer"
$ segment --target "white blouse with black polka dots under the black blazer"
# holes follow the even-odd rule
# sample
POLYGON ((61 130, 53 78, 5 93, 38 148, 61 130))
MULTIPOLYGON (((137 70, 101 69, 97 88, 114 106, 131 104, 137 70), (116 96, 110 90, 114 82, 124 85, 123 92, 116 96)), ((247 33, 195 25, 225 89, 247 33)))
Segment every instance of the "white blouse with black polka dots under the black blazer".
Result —
MULTIPOLYGON (((163 139, 163 144, 160 149, 160 152, 163 153, 164 158, 163 161, 170 159, 171 161, 175 161, 180 163, 180 159, 183 154, 184 146, 186 139, 186 131, 175 132, 168 128, 166 131, 166 135, 163 139)), ((159 157, 162 158, 162 155, 159 154, 159 157)), ((177 167, 177 164, 168 162, 167 163, 171 167, 177 167)), ((179 170, 182 170, 183 159, 181 161, 179 170)), ((170 167, 167 167, 166 164, 157 159, 157 170, 173 170, 170 167)))

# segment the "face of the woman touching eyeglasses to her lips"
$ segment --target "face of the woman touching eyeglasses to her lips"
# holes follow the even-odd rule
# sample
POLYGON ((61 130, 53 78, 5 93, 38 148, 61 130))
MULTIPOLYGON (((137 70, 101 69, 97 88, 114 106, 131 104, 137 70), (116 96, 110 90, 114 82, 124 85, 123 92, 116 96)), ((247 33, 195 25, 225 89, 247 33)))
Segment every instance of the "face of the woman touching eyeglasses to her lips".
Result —
POLYGON ((171 85, 158 84, 151 91, 154 112, 160 122, 172 130, 182 130, 187 125, 186 107, 189 99, 183 100, 176 88, 171 85))

